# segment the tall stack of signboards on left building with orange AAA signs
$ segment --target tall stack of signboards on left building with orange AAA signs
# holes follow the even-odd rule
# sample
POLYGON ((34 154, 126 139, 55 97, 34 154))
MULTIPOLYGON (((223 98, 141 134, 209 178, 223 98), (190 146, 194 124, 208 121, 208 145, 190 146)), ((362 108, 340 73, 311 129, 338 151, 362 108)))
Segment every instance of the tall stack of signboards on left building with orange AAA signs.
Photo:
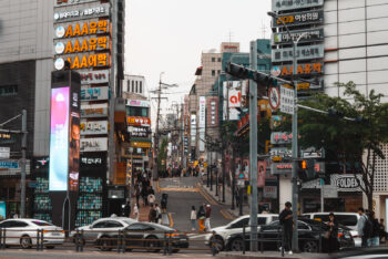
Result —
MULTIPOLYGON (((108 172, 112 20, 110 1, 58 0, 53 70, 67 63, 81 75, 80 178, 75 226, 103 216, 108 172)), ((111 111, 112 112, 112 111, 111 111)))

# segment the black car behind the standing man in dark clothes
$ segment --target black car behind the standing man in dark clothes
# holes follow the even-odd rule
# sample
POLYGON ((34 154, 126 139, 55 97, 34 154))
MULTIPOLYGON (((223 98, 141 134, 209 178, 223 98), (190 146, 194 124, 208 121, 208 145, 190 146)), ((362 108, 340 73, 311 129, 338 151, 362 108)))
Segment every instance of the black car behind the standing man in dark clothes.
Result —
MULTIPOLYGON (((305 252, 319 251, 319 237, 321 238, 321 248, 327 248, 327 239, 324 238, 328 226, 317 220, 299 219, 298 220, 299 250, 305 252)), ((278 220, 263 226, 257 234, 258 248, 261 248, 261 239, 263 239, 264 249, 278 249, 282 245, 282 226, 278 220)), ((354 247, 354 240, 344 226, 338 228, 338 241, 340 249, 354 247)), ((244 249, 243 234, 231 235, 226 240, 226 247, 233 251, 244 249)), ((245 234, 245 249, 249 249, 249 232, 245 234)))

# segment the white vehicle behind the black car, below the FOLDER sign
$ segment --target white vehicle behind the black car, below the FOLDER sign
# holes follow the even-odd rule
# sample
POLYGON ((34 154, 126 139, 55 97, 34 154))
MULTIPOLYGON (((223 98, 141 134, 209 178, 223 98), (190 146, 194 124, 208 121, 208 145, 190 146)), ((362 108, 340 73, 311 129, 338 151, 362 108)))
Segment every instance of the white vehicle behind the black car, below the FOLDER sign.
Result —
MULTIPOLYGON (((338 224, 350 228, 350 235, 355 240, 355 246, 361 247, 361 239, 358 238, 358 231, 357 231, 357 222, 360 216, 357 213, 334 213, 334 215, 338 224)), ((329 221, 329 213, 312 213, 312 214, 303 214, 302 216, 307 217, 309 219, 315 219, 321 222, 329 221)))

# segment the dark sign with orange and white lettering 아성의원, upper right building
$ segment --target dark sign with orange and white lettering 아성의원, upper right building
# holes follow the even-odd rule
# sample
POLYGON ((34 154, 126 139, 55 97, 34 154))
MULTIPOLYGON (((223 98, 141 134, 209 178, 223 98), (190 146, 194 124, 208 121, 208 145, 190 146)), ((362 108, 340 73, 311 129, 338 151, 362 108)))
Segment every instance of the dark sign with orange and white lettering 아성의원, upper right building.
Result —
POLYGON ((287 25, 316 24, 324 22, 324 11, 307 11, 289 14, 282 14, 278 19, 273 19, 273 27, 283 27, 282 21, 287 25))

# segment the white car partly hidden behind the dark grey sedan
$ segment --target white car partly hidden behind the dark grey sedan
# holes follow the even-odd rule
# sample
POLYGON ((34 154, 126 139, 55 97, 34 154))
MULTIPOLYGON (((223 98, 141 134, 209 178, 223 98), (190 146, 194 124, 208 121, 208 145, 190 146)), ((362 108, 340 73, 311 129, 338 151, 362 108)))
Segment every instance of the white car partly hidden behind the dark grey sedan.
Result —
MULTIPOLYGON (((126 217, 110 217, 100 218, 83 227, 79 227, 75 230, 83 230, 82 240, 84 245, 92 242, 103 251, 112 249, 111 239, 118 235, 119 230, 123 230, 127 226, 137 222, 135 219, 126 217)), ((72 232, 73 240, 75 241, 76 231, 72 232)))

